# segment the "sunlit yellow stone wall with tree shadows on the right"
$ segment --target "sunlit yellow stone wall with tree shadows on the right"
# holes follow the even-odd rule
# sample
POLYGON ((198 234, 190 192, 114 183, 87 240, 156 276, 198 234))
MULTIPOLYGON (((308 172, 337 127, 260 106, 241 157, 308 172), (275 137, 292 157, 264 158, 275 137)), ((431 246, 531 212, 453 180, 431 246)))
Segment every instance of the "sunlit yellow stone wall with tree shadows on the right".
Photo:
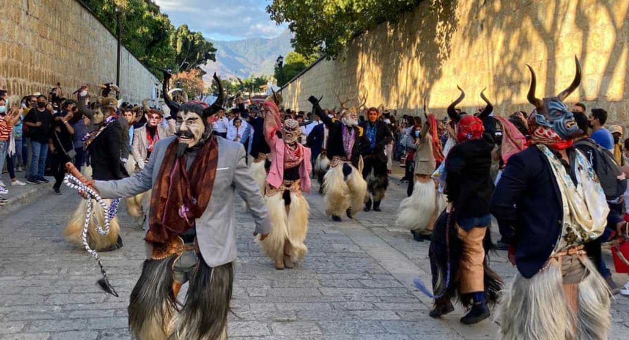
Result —
POLYGON ((567 102, 603 107, 611 121, 629 123, 629 1, 615 0, 427 0, 398 23, 384 23, 357 37, 346 55, 323 60, 282 91, 286 107, 309 111, 308 96, 323 107, 367 93, 367 105, 412 113, 423 96, 433 112, 459 92, 462 107, 476 110, 479 93, 499 114, 530 111, 530 75, 537 96, 554 96, 574 77, 581 60, 581 87, 567 102))

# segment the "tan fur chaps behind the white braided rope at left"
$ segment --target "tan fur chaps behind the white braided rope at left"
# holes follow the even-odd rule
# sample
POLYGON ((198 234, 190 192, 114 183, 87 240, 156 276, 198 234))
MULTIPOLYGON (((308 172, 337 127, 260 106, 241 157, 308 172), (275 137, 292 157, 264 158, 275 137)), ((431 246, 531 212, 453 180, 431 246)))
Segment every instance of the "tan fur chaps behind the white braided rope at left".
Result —
MULTIPOLYGON (((111 204, 111 199, 106 199, 107 204, 111 204)), ((86 217, 87 200, 81 200, 79 207, 72 213, 68 220, 67 226, 65 226, 64 237, 70 242, 79 246, 83 245, 83 225, 86 217)), ((118 224, 118 217, 114 217, 109 221, 109 233, 101 235, 96 231, 96 225, 104 227, 104 211, 103 207, 96 203, 94 200, 94 209, 92 209, 92 218, 87 227, 87 243, 93 250, 107 249, 118 241, 118 234, 120 234, 120 225, 118 224)))

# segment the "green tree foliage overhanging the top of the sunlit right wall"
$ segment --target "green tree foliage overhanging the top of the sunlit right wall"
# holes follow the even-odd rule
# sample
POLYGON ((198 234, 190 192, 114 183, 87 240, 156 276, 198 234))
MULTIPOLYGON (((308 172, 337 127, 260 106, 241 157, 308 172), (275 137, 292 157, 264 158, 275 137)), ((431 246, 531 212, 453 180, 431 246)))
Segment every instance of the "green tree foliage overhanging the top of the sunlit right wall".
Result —
POLYGON ((274 0, 267 12, 288 23, 292 46, 303 55, 338 57, 355 35, 384 21, 396 21, 421 0, 274 0))

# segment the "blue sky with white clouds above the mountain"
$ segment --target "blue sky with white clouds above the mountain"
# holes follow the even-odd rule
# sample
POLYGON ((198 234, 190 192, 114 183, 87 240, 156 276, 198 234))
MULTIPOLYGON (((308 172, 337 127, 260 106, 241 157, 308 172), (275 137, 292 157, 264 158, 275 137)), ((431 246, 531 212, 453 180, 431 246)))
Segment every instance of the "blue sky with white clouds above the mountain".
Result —
POLYGON ((214 40, 274 38, 286 30, 265 11, 270 0, 155 0, 172 25, 187 24, 214 40))

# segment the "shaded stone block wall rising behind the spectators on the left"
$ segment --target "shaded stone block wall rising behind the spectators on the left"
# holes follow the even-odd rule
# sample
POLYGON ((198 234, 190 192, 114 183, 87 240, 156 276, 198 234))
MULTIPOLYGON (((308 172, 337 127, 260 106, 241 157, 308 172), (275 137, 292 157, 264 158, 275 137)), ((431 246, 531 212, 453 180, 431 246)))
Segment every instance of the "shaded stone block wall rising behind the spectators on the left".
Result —
MULTIPOLYGON (((0 89, 23 96, 60 82, 66 97, 81 84, 116 82, 116 37, 77 0, 0 1, 0 89)), ((126 48, 121 101, 151 98, 160 81, 126 48)))

